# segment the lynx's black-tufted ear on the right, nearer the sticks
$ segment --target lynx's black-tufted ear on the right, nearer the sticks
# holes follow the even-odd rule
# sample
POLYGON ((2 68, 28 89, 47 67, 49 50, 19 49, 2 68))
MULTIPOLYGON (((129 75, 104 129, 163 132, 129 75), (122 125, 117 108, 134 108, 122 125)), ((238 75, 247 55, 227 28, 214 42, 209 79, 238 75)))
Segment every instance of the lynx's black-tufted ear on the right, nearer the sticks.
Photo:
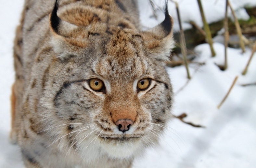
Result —
POLYGON ((165 4, 165 19, 159 25, 142 33, 146 47, 151 57, 158 60, 169 60, 173 40, 173 18, 168 13, 167 1, 165 4))

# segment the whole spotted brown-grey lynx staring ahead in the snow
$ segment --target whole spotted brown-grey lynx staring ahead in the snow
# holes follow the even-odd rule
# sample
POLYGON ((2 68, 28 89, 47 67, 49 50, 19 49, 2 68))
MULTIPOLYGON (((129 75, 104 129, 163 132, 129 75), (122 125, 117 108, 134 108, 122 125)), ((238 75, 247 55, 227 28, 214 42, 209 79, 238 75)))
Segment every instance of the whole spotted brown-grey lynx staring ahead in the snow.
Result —
POLYGON ((12 130, 26 167, 132 167, 171 119, 173 20, 139 29, 135 0, 25 0, 12 130))

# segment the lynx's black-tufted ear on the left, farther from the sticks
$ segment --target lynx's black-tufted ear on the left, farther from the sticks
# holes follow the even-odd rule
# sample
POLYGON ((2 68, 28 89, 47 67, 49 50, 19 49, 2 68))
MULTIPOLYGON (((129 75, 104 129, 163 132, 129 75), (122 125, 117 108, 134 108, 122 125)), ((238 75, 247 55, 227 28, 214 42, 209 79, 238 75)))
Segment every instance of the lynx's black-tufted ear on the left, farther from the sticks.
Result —
POLYGON ((65 59, 70 55, 74 54, 76 46, 70 45, 70 41, 72 40, 69 38, 69 34, 74 29, 78 28, 78 26, 61 20, 57 16, 58 7, 59 0, 56 0, 54 8, 49 15, 49 25, 53 35, 51 39, 51 44, 54 48, 55 53, 57 54, 56 57, 65 59))

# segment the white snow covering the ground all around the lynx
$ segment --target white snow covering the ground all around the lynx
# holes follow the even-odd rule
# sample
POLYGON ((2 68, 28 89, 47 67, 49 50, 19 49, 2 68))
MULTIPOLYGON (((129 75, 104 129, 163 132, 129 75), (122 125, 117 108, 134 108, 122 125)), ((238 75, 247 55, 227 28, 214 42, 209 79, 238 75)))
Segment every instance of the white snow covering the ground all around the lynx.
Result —
MULTIPOLYGON (((206 17, 216 21, 224 16, 224 0, 203 0, 206 17)), ((256 0, 231 0, 240 18, 246 18, 244 5, 256 5, 256 0)), ((150 16, 149 5, 140 1, 144 26, 158 22, 150 16), (148 13, 149 12, 149 13, 148 13), (147 19, 147 20, 146 20, 147 19)), ((158 3, 159 5, 162 2, 158 3)), ((10 88, 14 81, 12 46, 15 27, 18 24, 23 1, 0 1, 0 167, 22 168, 19 149, 8 142, 10 131, 10 88)), ((174 5, 169 3, 170 14, 176 17, 174 5)), ((194 20, 201 24, 196 0, 180 0, 183 21, 194 20)), ((159 17, 161 20, 161 16, 159 17)), ((176 22, 174 23, 176 24, 176 22)), ((184 23, 186 27, 186 23, 184 23)), ((177 29, 177 24, 176 24, 177 29)), ((174 28, 175 28, 174 27, 174 28)), ((188 25, 187 25, 188 27, 188 25)), ((134 163, 134 168, 254 168, 256 165, 256 86, 241 84, 256 82, 256 54, 248 73, 241 75, 249 57, 241 49, 228 48, 228 69, 221 71, 216 65, 224 63, 224 46, 214 44, 216 57, 211 58, 210 47, 202 44, 195 48, 199 66, 191 64, 192 79, 187 82, 183 66, 168 68, 175 92, 173 113, 188 114, 186 121, 206 128, 195 128, 177 119, 169 123, 160 147, 148 149, 143 158, 134 163), (217 105, 231 86, 235 76, 238 81, 220 110, 217 105), (187 84, 186 84, 187 83, 187 84), (186 85, 186 87, 184 87, 186 85), (184 89, 181 89, 183 88, 184 89)))

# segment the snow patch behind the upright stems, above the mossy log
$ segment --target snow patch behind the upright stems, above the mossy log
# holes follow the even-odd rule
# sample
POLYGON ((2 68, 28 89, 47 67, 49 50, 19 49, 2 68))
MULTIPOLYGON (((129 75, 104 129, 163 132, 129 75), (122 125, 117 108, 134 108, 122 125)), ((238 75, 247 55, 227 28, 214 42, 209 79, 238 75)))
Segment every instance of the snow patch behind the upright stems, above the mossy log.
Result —
MULTIPOLYGON (((140 0, 139 6, 140 11, 143 14, 141 19, 141 23, 143 26, 152 27, 159 23, 160 20, 164 19, 164 15, 162 10, 158 11, 158 19, 156 20, 152 17, 152 9, 147 0, 140 0)), ((203 22, 201 19, 198 2, 197 0, 174 0, 179 4, 179 11, 182 20, 183 29, 191 28, 191 25, 188 23, 190 21, 194 21, 198 26, 203 27, 203 22)), ((202 6, 204 10, 204 14, 208 23, 216 22, 222 20, 225 16, 225 5, 226 1, 224 0, 201 0, 202 6)), ((160 9, 164 6, 163 0, 153 0, 155 5, 160 9)), ((232 4, 233 9, 237 15, 238 19, 249 19, 248 14, 246 13, 244 6, 255 6, 255 0, 229 0, 230 4, 232 4)), ((174 32, 179 31, 179 24, 177 19, 176 7, 175 4, 171 1, 168 1, 168 9, 169 14, 174 19, 174 32)), ((228 10, 228 16, 232 16, 231 10, 228 10)), ((231 17, 232 18, 232 17, 231 17)))

